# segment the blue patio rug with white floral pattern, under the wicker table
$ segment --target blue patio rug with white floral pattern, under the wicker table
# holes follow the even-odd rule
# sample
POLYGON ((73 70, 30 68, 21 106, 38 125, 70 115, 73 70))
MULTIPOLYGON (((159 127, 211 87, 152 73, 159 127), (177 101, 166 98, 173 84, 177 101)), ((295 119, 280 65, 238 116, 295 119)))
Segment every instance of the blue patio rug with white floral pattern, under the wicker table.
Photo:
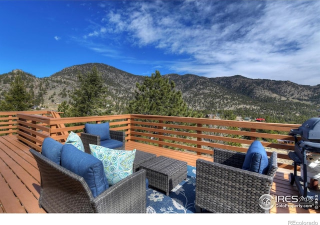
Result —
POLYGON ((146 213, 194 213, 195 167, 187 166, 187 178, 166 196, 163 191, 146 190, 146 213))

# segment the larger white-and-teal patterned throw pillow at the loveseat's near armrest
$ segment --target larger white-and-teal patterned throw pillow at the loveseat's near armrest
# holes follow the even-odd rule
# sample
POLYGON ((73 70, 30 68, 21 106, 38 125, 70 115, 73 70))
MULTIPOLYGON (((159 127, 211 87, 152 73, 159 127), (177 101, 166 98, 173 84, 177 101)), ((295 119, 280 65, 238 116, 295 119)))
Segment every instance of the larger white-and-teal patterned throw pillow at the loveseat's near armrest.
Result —
POLYGON ((110 186, 132 174, 135 149, 117 150, 95 144, 89 144, 89 147, 91 154, 102 161, 110 186))

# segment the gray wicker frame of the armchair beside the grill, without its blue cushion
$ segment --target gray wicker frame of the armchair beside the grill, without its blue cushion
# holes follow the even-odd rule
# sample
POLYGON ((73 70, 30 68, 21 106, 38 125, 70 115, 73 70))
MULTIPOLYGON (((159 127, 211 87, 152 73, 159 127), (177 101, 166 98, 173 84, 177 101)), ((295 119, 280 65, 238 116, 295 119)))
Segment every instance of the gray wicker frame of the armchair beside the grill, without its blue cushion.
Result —
POLYGON ((241 169, 245 153, 214 148, 214 162, 196 161, 195 207, 215 213, 268 213, 259 206, 269 194, 277 169, 277 153, 268 158, 267 174, 241 169))

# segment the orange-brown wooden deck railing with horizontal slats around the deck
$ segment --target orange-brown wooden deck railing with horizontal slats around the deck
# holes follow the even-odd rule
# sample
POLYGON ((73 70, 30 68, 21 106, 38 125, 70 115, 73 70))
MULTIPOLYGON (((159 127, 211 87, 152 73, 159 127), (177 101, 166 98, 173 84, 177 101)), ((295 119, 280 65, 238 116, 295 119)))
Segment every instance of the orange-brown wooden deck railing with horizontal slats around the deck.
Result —
POLYGON ((61 118, 53 111, 1 113, 2 135, 17 133, 21 141, 37 150, 41 150, 42 141, 47 136, 64 142, 70 131, 82 132, 85 122, 108 121, 111 129, 125 131, 126 140, 198 155, 210 156, 214 147, 245 152, 247 146, 258 139, 268 154, 278 151, 278 158, 282 159, 279 160, 279 167, 289 169, 292 165, 287 153, 294 150, 294 144, 289 143, 294 138, 288 133, 290 129, 300 126, 142 114, 61 118))

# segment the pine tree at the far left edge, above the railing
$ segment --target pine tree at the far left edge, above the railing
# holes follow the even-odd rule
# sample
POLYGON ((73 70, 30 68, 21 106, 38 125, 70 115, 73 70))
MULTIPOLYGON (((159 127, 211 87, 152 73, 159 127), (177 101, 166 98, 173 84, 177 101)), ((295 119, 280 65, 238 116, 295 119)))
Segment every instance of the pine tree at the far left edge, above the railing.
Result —
POLYGON ((24 86, 20 75, 16 75, 10 84, 4 99, 0 102, 1 111, 25 111, 32 106, 31 95, 24 86))

